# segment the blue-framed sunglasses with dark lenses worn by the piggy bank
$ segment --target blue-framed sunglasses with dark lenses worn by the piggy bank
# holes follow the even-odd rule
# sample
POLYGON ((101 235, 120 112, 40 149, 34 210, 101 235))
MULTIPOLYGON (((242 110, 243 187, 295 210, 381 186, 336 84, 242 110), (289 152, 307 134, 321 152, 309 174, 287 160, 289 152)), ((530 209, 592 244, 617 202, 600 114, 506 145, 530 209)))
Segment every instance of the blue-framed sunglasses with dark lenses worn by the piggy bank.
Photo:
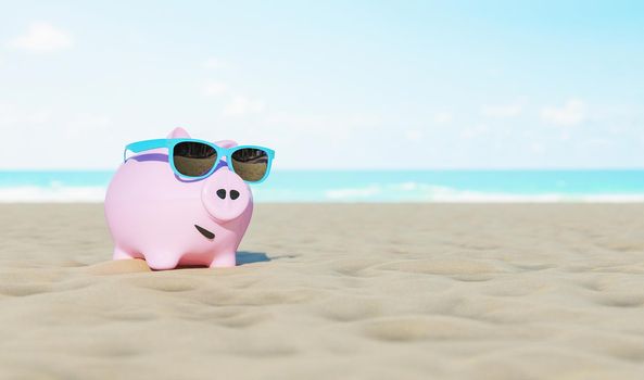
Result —
POLYGON ((275 151, 255 145, 223 148, 212 142, 195 139, 155 139, 129 143, 123 152, 140 153, 151 149, 167 148, 168 162, 175 174, 189 179, 202 179, 215 172, 219 160, 226 157, 231 172, 247 182, 263 182, 270 173, 275 151))

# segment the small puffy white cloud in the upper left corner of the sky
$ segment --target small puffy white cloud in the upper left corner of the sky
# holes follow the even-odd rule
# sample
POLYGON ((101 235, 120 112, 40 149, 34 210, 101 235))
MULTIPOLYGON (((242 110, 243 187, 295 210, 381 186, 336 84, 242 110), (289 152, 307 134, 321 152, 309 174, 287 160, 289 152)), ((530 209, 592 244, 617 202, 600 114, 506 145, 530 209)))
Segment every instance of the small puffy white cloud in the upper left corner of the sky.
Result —
POLYGON ((9 46, 33 52, 51 52, 72 47, 72 37, 47 23, 33 23, 27 33, 9 41, 9 46))

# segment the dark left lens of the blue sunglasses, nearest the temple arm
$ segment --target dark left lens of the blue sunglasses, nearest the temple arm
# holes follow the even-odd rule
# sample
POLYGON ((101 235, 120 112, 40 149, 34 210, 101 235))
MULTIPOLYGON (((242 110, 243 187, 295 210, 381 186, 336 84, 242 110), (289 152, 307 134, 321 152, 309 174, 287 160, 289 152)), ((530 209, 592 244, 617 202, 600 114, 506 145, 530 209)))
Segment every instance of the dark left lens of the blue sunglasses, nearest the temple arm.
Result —
POLYGON ((205 143, 185 141, 173 151, 175 168, 187 177, 201 177, 217 163, 217 152, 205 143))

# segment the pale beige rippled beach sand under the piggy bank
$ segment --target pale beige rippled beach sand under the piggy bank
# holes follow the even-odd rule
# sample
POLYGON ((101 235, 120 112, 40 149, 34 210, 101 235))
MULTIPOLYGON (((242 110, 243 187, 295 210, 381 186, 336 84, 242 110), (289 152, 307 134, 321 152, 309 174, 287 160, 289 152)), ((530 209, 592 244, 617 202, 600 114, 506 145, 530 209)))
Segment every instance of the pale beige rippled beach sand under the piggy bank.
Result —
POLYGON ((644 205, 256 206, 240 266, 0 205, 1 379, 642 379, 644 205))

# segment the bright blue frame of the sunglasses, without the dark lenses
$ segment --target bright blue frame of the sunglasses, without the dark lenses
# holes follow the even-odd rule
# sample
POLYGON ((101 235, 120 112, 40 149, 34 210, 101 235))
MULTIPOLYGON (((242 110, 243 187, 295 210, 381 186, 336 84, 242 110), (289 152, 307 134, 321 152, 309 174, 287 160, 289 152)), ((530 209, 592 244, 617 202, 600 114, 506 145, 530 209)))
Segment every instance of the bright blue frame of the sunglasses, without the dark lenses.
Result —
POLYGON ((264 177, 262 177, 262 179, 256 180, 256 181, 249 181, 243 178, 242 178, 242 180, 248 183, 262 183, 268 177, 268 174, 270 173, 270 166, 273 164, 273 157, 275 157, 274 150, 264 148, 264 147, 258 147, 258 145, 238 145, 238 147, 233 147, 233 148, 223 148, 219 145, 215 145, 212 142, 204 141, 204 140, 198 140, 198 139, 153 139, 153 140, 143 140, 143 141, 131 142, 131 143, 128 143, 127 145, 125 145, 125 151, 123 152, 123 162, 127 161, 127 157, 126 157, 127 151, 131 151, 134 153, 140 153, 140 152, 149 151, 152 149, 161 149, 161 148, 167 149, 167 152, 168 152, 167 162, 169 163, 171 167, 173 168, 173 172, 175 172, 175 174, 177 176, 185 178, 185 179, 190 179, 190 180, 199 180, 199 179, 203 179, 203 178, 206 178, 210 175, 212 175, 215 172, 215 169, 219 166, 219 162, 222 161, 223 157, 226 157, 226 164, 228 165, 228 169, 230 172, 236 173, 235 167, 232 167, 232 163, 231 163, 232 153, 235 153, 241 149, 257 149, 257 150, 262 150, 262 151, 266 152, 266 156, 268 160, 266 162, 266 173, 264 173, 264 177), (192 176, 186 176, 185 174, 181 174, 175 167, 175 160, 173 159, 174 152, 175 152, 175 147, 181 142, 199 142, 199 143, 203 143, 203 144, 206 144, 206 145, 213 148, 215 150, 215 152, 217 153, 217 162, 213 165, 213 167, 206 174, 204 174, 202 176, 192 177, 192 176))

